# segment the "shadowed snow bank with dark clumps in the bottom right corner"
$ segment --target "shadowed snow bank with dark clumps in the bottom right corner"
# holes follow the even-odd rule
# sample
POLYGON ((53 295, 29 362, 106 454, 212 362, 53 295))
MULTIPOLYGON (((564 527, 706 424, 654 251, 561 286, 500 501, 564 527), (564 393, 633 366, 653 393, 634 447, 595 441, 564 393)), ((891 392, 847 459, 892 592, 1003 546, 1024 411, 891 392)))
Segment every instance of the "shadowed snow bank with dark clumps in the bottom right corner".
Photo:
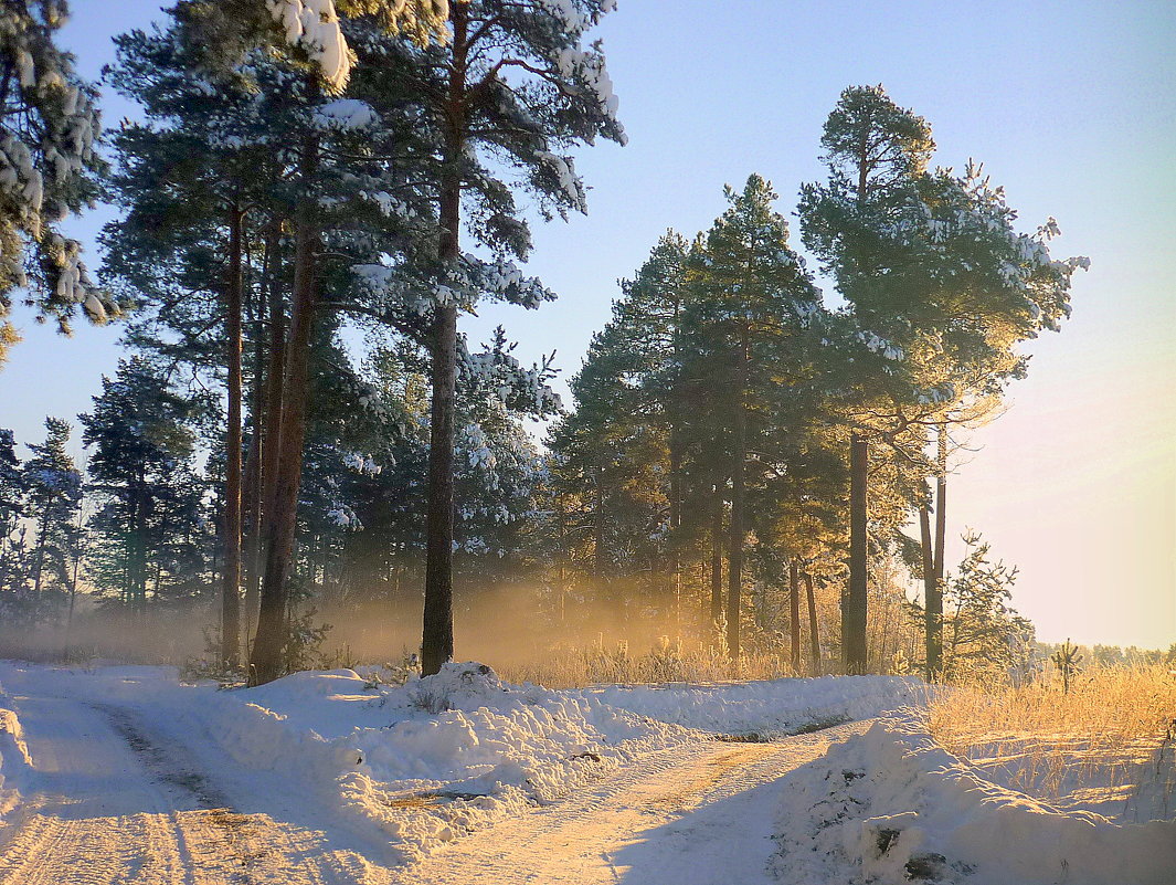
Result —
POLYGON ((796 883, 1170 883, 1176 821, 1117 825, 997 786, 917 713, 876 723, 786 780, 774 866, 796 883))

